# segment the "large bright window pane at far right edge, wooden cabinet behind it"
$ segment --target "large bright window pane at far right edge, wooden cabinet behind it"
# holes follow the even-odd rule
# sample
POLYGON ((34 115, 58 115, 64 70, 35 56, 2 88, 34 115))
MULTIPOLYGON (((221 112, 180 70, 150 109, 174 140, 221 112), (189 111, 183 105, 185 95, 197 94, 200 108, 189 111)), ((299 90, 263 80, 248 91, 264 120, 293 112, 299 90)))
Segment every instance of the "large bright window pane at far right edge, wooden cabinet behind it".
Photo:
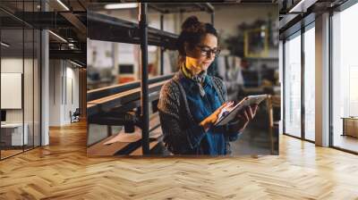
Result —
POLYGON ((333 16, 333 146, 358 152, 358 4, 333 16), (344 120, 345 119, 345 120, 344 120))

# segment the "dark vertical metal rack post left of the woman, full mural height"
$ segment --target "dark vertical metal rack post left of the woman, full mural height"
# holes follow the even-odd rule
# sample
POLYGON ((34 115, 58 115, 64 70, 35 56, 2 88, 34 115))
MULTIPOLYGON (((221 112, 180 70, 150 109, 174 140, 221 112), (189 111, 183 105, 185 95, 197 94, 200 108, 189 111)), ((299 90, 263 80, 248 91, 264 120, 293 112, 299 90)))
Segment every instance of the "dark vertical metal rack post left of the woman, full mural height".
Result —
POLYGON ((148 87, 148 22, 147 3, 140 4, 141 34, 141 147, 149 154, 149 87, 148 87))

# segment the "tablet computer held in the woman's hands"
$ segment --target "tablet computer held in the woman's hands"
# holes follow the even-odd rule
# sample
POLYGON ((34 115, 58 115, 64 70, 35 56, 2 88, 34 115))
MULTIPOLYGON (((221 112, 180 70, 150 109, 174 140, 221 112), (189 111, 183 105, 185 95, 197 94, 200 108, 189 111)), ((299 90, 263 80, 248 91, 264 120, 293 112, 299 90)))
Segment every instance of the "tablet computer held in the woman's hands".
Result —
POLYGON ((259 96, 246 96, 243 100, 234 106, 229 106, 223 108, 218 115, 217 122, 214 123, 214 126, 223 126, 229 121, 234 120, 237 112, 241 111, 244 107, 253 104, 260 104, 263 100, 265 100, 268 95, 259 95, 259 96))

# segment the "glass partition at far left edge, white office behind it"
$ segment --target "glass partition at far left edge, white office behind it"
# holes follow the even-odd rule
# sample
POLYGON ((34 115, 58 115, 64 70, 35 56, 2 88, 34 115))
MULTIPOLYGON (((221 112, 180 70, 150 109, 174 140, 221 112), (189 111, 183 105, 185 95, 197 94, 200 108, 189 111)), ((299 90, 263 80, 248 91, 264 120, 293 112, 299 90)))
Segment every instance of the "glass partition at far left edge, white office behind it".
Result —
POLYGON ((1 125, 2 159, 22 152, 27 144, 23 129, 23 29, 2 29, 1 41, 1 125))

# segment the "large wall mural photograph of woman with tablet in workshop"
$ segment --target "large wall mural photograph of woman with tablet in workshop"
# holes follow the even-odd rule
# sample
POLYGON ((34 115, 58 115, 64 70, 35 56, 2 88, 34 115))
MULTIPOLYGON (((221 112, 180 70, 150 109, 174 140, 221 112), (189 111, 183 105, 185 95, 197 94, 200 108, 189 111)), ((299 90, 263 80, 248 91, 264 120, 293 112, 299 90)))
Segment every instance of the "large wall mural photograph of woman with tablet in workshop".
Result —
POLYGON ((277 9, 91 4, 88 155, 278 154, 277 9))

